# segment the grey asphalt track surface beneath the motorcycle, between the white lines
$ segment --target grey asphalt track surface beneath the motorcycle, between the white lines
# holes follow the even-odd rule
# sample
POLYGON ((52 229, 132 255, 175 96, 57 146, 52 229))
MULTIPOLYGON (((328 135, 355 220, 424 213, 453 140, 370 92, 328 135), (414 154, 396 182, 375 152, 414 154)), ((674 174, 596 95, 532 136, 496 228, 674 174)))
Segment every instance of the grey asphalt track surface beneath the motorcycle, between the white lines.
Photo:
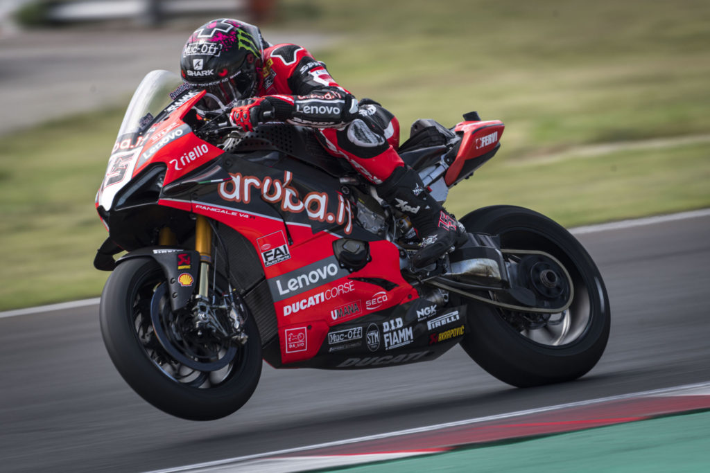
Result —
POLYGON ((141 472, 707 382, 709 229, 703 212, 579 233, 608 288, 608 348, 586 377, 532 389, 498 382, 459 347, 359 372, 265 366, 244 408, 196 423, 129 389, 97 306, 0 318, 0 470, 141 472))

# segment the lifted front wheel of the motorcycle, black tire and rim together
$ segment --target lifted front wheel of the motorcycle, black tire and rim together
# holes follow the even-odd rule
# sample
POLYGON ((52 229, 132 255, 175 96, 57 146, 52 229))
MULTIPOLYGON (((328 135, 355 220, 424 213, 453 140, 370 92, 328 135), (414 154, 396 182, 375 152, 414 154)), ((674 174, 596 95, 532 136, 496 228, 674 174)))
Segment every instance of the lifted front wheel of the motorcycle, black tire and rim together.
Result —
POLYGON ((261 376, 255 323, 246 318, 244 345, 196 333, 189 313, 170 309, 165 287, 152 259, 114 269, 100 305, 109 356, 131 388, 166 413, 192 421, 228 416, 251 397, 261 376))

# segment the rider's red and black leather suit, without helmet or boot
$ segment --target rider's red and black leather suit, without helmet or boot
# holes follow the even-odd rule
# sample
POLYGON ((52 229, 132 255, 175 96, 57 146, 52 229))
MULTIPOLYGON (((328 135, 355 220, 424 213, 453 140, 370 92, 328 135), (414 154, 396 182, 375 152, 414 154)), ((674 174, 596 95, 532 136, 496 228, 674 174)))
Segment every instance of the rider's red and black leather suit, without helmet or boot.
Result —
POLYGON ((267 48, 259 73, 258 95, 263 101, 245 105, 251 124, 254 116, 261 121, 270 110, 271 120, 319 128, 324 148, 344 157, 373 184, 381 184, 404 165, 395 150, 399 123, 392 113, 373 101, 359 104, 304 48, 293 44, 267 48))

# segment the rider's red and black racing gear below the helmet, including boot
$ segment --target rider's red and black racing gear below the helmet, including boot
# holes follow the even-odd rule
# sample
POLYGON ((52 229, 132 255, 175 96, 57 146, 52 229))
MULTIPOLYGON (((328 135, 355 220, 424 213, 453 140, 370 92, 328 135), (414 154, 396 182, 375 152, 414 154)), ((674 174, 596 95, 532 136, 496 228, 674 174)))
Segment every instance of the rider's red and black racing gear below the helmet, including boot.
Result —
POLYGON ((399 123, 392 113, 368 99, 358 102, 304 48, 266 48, 258 96, 236 101, 230 119, 245 130, 266 121, 317 128, 317 138, 329 154, 346 159, 376 185, 384 201, 410 218, 422 238, 412 258, 415 267, 430 265, 466 241, 463 226, 398 155, 399 123))

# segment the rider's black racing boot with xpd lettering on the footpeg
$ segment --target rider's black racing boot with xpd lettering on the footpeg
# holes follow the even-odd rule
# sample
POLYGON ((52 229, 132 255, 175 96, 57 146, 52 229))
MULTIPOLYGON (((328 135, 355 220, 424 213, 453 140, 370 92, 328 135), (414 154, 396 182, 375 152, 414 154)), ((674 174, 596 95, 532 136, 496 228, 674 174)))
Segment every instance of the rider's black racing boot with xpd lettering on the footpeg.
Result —
POLYGON ((420 249, 411 259, 414 267, 431 265, 444 253, 469 239, 466 228, 429 194, 419 174, 412 168, 395 168, 391 176, 377 187, 377 193, 410 218, 422 239, 420 249))

